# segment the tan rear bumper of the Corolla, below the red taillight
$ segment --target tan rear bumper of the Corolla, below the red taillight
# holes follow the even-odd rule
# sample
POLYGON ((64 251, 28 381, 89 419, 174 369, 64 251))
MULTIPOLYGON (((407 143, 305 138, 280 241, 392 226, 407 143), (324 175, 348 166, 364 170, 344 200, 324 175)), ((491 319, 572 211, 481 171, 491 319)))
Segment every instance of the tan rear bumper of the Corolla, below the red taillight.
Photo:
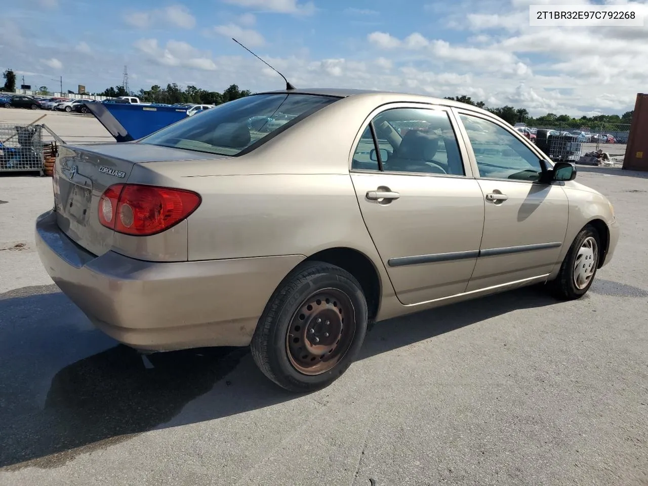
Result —
POLYGON ((246 346, 277 285, 303 255, 145 262, 88 253, 56 225, 36 221, 36 248, 52 280, 106 334, 139 349, 246 346))

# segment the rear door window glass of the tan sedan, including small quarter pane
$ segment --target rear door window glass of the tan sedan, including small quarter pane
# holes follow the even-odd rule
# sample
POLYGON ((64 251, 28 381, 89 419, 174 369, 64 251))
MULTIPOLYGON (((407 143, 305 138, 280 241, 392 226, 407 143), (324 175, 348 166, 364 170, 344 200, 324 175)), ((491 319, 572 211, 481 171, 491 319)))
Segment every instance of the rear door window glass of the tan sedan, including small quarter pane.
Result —
POLYGON ((393 108, 373 119, 360 138, 352 168, 463 176, 459 145, 448 113, 425 108, 393 108))

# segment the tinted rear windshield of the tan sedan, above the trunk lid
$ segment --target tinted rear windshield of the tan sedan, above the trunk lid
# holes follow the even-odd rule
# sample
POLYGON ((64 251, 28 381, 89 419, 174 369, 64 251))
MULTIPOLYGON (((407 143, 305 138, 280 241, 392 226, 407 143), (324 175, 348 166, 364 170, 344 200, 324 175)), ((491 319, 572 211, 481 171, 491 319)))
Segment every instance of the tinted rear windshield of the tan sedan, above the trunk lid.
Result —
POLYGON ((183 119, 139 142, 237 156, 336 100, 317 95, 252 95, 183 119))

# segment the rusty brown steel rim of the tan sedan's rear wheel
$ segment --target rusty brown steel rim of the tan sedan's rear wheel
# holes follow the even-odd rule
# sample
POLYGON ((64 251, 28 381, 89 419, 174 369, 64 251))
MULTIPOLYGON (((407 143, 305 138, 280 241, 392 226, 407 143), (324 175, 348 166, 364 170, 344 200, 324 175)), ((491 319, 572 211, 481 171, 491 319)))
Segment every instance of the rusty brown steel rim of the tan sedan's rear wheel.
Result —
POLYGON ((319 290, 303 301, 288 327, 288 359, 304 375, 326 373, 349 351, 355 332, 349 296, 334 288, 319 290))

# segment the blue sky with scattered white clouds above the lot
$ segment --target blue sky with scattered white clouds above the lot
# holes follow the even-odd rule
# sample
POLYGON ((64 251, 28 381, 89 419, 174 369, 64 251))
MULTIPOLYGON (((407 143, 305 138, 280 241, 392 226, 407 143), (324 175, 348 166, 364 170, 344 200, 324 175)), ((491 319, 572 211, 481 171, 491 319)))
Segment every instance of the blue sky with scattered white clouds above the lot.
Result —
MULTIPOLYGON (((23 0, 3 8, 0 67, 32 86, 176 82, 467 94, 533 114, 621 113, 648 78, 644 27, 529 27, 529 4, 626 0, 23 0)), ((632 2, 642 12, 648 0, 632 2)))

